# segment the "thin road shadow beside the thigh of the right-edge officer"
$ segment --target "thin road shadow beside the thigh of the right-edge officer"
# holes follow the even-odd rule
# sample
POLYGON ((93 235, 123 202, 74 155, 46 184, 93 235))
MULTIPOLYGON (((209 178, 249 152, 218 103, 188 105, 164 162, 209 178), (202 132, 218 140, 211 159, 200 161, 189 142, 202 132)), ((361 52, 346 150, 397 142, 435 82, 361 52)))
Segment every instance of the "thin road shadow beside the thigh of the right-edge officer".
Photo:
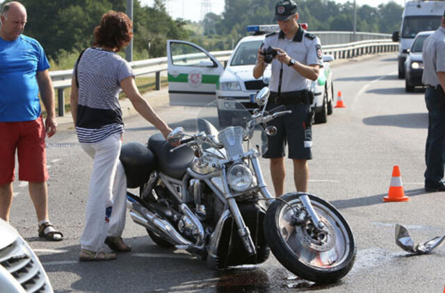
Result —
POLYGON ((403 128, 428 128, 428 113, 407 113, 398 115, 379 115, 362 120, 371 126, 398 126, 403 128))

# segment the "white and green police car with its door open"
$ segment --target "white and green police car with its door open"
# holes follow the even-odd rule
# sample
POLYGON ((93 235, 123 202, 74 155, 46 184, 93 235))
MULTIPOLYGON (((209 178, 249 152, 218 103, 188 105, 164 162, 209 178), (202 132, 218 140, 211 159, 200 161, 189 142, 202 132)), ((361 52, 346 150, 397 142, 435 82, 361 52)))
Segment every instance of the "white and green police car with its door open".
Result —
MULTIPOLYGON (((243 37, 238 42, 225 69, 202 47, 191 42, 168 40, 170 105, 204 106, 216 97, 220 124, 229 124, 229 112, 236 110, 236 103, 230 103, 227 98, 243 103, 248 110, 257 108, 253 103, 254 94, 267 86, 270 80, 270 66, 266 68, 263 77, 253 77, 257 51, 266 33, 279 29, 277 25, 248 26, 248 31, 254 35, 243 37)), ((327 115, 332 114, 334 108, 334 87, 329 65, 332 60, 334 58, 330 55, 323 56, 324 67, 320 70, 318 80, 311 84, 316 123, 326 122, 327 115)))

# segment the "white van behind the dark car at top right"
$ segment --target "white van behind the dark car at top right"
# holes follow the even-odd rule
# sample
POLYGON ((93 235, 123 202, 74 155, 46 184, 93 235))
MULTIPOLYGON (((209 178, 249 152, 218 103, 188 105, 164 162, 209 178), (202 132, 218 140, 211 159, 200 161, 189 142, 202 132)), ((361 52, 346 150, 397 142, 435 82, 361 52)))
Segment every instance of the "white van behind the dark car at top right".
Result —
POLYGON ((402 15, 401 31, 392 35, 398 47, 398 78, 405 78, 405 60, 407 49, 411 48, 414 37, 419 31, 435 31, 440 26, 444 15, 445 1, 407 1, 402 15))

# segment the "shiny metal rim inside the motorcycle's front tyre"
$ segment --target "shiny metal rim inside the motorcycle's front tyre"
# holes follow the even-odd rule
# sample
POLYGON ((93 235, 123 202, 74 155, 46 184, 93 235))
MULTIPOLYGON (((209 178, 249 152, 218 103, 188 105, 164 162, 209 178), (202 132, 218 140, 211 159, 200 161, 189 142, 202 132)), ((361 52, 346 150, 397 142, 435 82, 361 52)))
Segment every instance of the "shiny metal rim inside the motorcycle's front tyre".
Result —
POLYGON ((284 244, 296 258, 314 269, 332 269, 343 264, 350 253, 348 231, 341 219, 323 203, 311 201, 318 217, 325 224, 323 233, 314 233, 309 221, 301 226, 291 224, 291 216, 300 208, 299 199, 289 201, 278 215, 277 221, 284 244))

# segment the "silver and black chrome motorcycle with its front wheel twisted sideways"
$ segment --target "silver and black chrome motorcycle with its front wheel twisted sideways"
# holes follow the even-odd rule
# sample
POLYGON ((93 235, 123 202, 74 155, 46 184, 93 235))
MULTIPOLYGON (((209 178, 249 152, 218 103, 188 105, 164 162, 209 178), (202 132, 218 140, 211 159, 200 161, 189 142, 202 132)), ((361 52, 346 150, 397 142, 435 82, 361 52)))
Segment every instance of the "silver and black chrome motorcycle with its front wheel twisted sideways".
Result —
POLYGON ((266 111, 268 95, 267 87, 259 91, 255 101, 263 108, 253 114, 234 100, 211 103, 193 135, 183 128, 170 133, 169 142, 181 140, 178 147, 160 133, 147 146, 124 144, 127 186, 140 190, 127 192, 129 215, 159 246, 185 249, 212 268, 259 264, 271 250, 293 274, 332 283, 353 267, 353 233, 318 196, 290 192, 275 199, 268 192, 259 157, 276 128, 266 122, 289 113, 266 111), (230 126, 219 127, 218 103, 232 109, 225 116, 230 126))

